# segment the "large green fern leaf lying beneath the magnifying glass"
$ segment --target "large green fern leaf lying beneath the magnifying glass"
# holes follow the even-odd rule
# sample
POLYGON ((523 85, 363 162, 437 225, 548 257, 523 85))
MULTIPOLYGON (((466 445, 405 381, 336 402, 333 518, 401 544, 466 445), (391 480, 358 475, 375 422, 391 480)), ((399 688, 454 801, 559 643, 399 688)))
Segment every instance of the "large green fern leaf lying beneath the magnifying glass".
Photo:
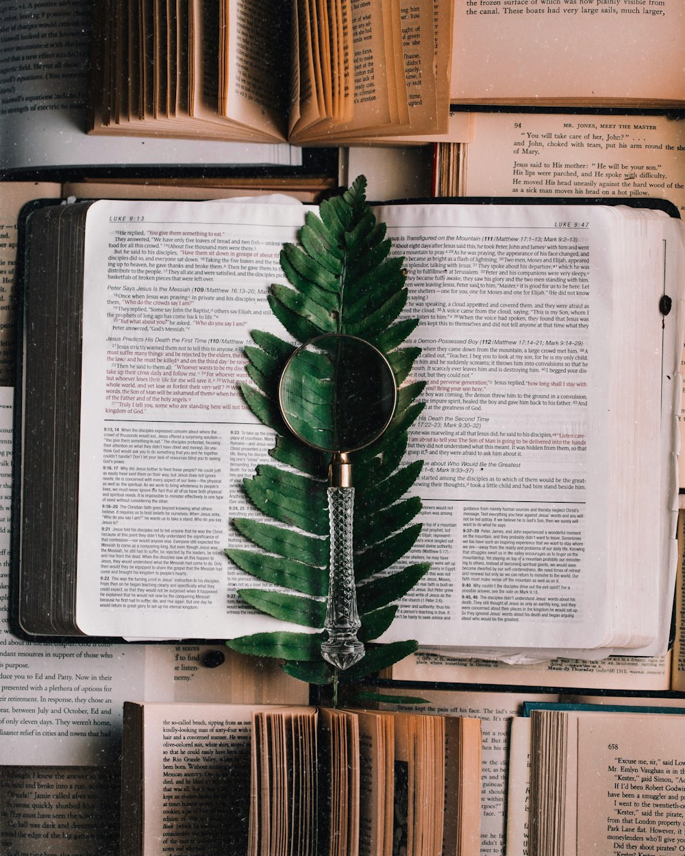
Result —
MULTIPOLYGON (((403 261, 390 256, 385 224, 377 223, 366 205, 365 191, 366 180, 360 176, 342 196, 325 200, 319 217, 307 212, 300 246, 286 245, 281 253, 288 284, 272 285, 267 299, 295 342, 331 332, 360 336, 386 354, 398 385, 402 384, 384 437, 353 457, 355 562, 360 577, 368 578, 358 590, 360 638, 369 641, 390 626, 396 602, 420 580, 427 566, 417 563, 384 573, 412 547, 420 532, 420 525, 412 523, 420 500, 405 495, 419 477, 422 462, 405 464, 403 456, 408 427, 423 407, 416 401, 423 384, 405 383, 420 349, 402 345, 418 319, 399 319, 407 300, 403 261)), ((235 520, 236 532, 255 549, 230 548, 225 554, 247 574, 280 589, 241 589, 247 603, 266 615, 318 628, 325 620, 323 598, 330 561, 328 457, 295 439, 280 414, 278 378, 296 345, 259 330, 252 337, 257 347, 246 348, 247 372, 257 388, 242 384, 242 394, 258 419, 277 432, 269 454, 282 467, 262 464, 251 479, 245 479, 248 500, 272 522, 235 520)), ((309 426, 312 440, 320 437, 322 428, 328 430, 323 410, 330 405, 330 376, 330 368, 319 356, 302 372, 307 410, 297 415, 309 426)), ((321 638, 320 633, 256 633, 229 645, 236 651, 280 657, 287 661, 283 669, 289 675, 327 684, 333 669, 320 657, 321 638)), ((368 645, 366 657, 343 673, 343 680, 384 669, 415 648, 414 641, 368 645)))

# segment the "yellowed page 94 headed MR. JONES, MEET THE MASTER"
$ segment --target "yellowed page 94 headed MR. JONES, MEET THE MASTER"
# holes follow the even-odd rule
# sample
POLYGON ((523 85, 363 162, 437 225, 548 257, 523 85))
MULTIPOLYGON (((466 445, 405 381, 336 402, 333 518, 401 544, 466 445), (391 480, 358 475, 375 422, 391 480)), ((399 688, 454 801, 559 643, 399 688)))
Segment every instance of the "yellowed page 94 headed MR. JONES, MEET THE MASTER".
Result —
POLYGON ((655 197, 685 216, 685 120, 608 113, 470 116, 467 196, 655 197))

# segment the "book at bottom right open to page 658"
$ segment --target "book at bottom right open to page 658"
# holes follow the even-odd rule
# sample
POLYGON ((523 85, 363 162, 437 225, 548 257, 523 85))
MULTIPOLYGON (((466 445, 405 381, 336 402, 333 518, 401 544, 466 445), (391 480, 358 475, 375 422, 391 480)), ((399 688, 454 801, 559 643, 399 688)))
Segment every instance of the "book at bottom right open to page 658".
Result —
POLYGON ((507 852, 677 853, 682 708, 546 706, 512 722, 507 852))

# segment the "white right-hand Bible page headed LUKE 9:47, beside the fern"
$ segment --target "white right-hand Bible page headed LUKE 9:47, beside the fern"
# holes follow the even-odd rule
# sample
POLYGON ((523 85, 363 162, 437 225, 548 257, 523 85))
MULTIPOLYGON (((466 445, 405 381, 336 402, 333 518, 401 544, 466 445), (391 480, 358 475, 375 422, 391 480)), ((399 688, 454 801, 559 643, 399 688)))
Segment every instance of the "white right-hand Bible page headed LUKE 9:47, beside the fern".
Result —
MULTIPOLYGON (((606 629, 611 236, 605 212, 386 206, 426 409, 409 440, 431 573, 392 633, 587 648, 606 629), (428 229, 426 222, 432 223, 428 229)), ((658 390, 657 390, 658 391, 658 390)))

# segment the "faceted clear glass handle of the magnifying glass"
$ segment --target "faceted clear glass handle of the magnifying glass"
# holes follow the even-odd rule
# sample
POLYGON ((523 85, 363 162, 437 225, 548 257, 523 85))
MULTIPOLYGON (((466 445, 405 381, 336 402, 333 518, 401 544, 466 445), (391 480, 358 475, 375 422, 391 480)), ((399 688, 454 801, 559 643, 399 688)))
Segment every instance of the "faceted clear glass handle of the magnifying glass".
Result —
POLYGON ((328 639, 321 645, 324 659, 338 669, 349 669, 364 657, 357 639, 361 621, 357 613, 352 552, 354 487, 330 487, 328 510, 331 520, 331 576, 324 629, 328 639))

